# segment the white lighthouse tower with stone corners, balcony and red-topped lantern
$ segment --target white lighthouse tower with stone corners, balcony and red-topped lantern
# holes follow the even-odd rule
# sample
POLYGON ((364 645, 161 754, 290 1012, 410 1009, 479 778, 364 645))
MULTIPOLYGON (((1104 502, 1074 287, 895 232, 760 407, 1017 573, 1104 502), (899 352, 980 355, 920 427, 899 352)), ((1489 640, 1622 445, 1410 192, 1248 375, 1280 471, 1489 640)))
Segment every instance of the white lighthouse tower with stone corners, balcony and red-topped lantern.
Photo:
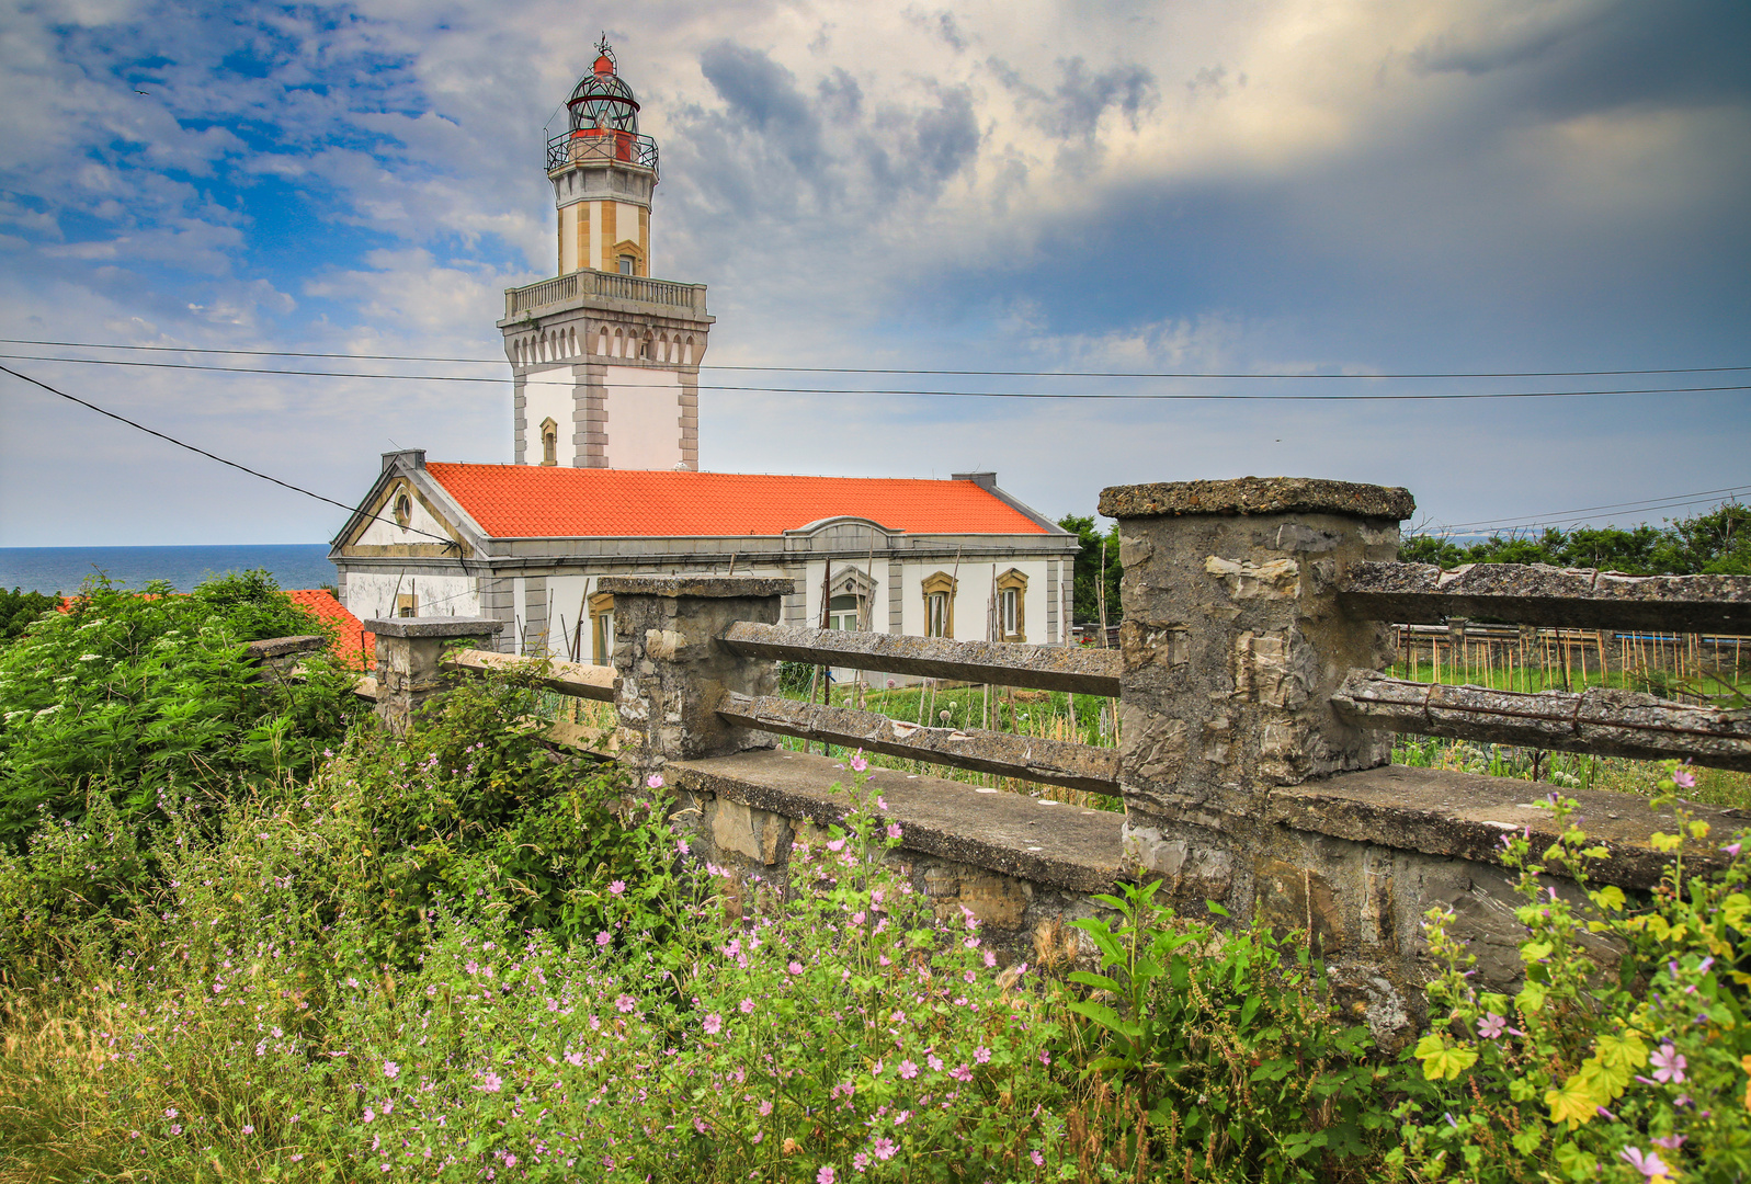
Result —
POLYGON ((608 39, 548 140, 555 278, 504 292, 517 464, 697 469, 706 285, 651 278, 657 142, 608 39))

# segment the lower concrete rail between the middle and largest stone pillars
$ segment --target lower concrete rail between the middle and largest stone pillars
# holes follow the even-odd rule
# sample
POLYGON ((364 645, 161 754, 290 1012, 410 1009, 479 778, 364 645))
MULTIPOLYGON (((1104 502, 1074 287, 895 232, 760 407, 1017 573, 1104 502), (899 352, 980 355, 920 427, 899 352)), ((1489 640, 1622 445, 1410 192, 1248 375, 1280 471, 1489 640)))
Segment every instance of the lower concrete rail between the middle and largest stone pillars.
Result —
POLYGON ((737 727, 825 741, 844 748, 912 757, 1000 778, 1063 785, 1089 793, 1119 795, 1119 751, 1037 736, 984 729, 918 727, 874 711, 828 708, 777 695, 725 694, 718 715, 737 727))

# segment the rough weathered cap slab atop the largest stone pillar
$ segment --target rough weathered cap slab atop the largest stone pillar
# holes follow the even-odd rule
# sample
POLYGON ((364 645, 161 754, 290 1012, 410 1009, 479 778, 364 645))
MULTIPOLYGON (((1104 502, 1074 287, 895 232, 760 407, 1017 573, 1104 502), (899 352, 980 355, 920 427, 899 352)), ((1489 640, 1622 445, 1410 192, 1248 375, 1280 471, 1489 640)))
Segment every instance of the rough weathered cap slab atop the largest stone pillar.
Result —
POLYGON ((1417 499, 1411 490, 1389 485, 1327 482, 1317 476, 1241 476, 1227 482, 1110 485, 1100 492, 1100 511, 1108 518, 1341 513, 1352 518, 1404 520, 1417 513, 1417 499))

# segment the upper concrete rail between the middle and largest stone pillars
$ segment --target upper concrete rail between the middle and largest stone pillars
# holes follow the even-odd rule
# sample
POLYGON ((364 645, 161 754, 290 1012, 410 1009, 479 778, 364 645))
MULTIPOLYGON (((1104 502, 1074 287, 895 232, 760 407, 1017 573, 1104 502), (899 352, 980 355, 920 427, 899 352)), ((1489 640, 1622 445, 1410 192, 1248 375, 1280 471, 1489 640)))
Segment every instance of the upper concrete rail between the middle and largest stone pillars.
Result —
POLYGON ((949 641, 844 629, 797 629, 737 622, 723 645, 744 657, 860 671, 954 678, 996 687, 1035 687, 1077 695, 1117 697, 1117 650, 1031 646, 1002 641, 949 641))

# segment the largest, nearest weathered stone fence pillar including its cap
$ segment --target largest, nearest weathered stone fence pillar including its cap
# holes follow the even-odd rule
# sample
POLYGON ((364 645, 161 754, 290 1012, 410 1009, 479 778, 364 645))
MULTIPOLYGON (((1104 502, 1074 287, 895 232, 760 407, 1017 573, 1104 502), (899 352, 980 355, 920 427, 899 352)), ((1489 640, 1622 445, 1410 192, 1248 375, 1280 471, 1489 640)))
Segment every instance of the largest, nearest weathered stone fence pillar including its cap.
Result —
POLYGON ((1310 478, 1101 492, 1124 562, 1119 779, 1140 870, 1198 874, 1226 856, 1185 823, 1245 844, 1273 786, 1390 760, 1390 736, 1327 702, 1392 659, 1390 629, 1340 613, 1336 590, 1348 564, 1397 559, 1413 508, 1404 489, 1310 478))

